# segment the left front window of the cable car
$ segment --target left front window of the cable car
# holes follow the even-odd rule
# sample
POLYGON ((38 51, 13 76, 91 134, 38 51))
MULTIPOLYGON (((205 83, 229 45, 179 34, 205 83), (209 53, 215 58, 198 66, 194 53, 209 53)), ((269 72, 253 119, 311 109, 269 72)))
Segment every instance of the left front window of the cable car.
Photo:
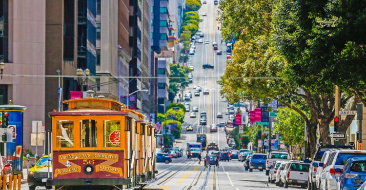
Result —
POLYGON ((74 147, 74 121, 60 120, 57 121, 57 148, 73 148, 74 147))

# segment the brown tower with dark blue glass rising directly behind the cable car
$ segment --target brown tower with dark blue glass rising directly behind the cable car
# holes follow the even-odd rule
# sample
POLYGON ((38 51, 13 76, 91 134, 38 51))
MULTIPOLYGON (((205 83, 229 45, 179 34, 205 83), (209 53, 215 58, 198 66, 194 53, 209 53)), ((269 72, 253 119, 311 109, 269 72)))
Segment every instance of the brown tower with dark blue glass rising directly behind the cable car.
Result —
MULTIPOLYGON (((86 91, 89 89, 88 86, 95 84, 96 79, 92 77, 86 79, 85 72, 82 72, 84 77, 78 80, 76 70, 88 69, 89 76, 96 76, 97 2, 96 0, 44 0, 42 2, 45 5, 45 23, 43 24, 45 24, 45 49, 47 50, 45 51, 45 74, 61 75, 59 78, 51 77, 45 81, 47 93, 43 104, 45 111, 42 114, 46 129, 51 129, 48 112, 58 110, 61 101, 70 99, 72 92, 77 92, 73 97, 82 96, 81 91, 86 91), (60 72, 58 73, 57 70, 60 72), (61 98, 58 93, 59 86, 61 98)), ((61 105, 60 110, 65 108, 67 107, 61 105)))

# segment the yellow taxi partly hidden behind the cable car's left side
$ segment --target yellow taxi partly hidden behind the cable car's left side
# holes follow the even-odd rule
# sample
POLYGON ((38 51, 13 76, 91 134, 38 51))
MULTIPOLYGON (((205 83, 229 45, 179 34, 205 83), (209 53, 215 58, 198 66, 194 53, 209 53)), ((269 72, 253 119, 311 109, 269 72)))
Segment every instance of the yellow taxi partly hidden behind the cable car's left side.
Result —
POLYGON ((47 174, 52 177, 52 155, 42 156, 36 164, 32 164, 32 168, 28 172, 28 187, 29 190, 35 190, 37 187, 45 187, 47 190, 52 189, 52 186, 46 186, 47 174), (48 167, 49 163, 49 167, 48 167))

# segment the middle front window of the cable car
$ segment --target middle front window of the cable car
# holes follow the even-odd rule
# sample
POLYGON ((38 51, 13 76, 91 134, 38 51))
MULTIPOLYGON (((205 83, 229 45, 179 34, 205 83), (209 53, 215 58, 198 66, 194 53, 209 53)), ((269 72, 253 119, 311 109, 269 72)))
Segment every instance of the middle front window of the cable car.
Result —
POLYGON ((80 121, 80 147, 97 147, 97 120, 80 121))

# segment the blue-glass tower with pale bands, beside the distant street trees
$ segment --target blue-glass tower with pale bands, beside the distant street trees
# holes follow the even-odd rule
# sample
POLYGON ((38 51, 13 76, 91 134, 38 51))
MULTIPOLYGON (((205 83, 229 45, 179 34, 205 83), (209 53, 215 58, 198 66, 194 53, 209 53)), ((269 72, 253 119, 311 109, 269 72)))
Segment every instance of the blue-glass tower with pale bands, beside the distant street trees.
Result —
MULTIPOLYGON (((154 76, 165 77, 155 78, 154 85, 151 89, 154 91, 154 102, 156 105, 167 104, 169 79, 169 62, 163 56, 164 51, 168 50, 168 35, 169 35, 169 1, 168 0, 151 0, 151 66, 157 73, 154 76), (159 57, 159 58, 158 58, 159 57)), ((158 106, 154 112, 164 113, 163 106, 158 106)))

